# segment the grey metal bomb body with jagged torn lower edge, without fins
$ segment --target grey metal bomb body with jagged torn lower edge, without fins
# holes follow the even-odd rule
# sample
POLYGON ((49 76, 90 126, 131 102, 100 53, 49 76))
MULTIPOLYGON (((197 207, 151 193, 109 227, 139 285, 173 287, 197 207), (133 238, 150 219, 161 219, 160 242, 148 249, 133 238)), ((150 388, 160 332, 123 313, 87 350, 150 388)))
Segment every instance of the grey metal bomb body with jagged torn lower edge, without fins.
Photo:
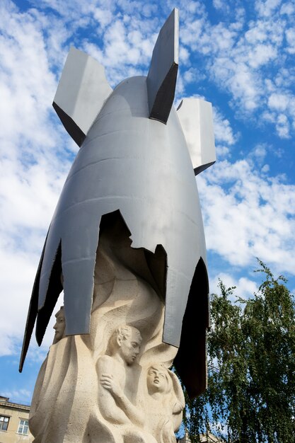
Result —
POLYGON ((146 77, 123 81, 108 98, 76 156, 52 219, 38 309, 45 304, 62 240, 67 335, 88 333, 100 218, 116 209, 132 232, 133 248, 154 252, 161 244, 167 253, 163 340, 178 346, 185 294, 199 257, 206 261, 204 231, 176 111, 171 110, 167 125, 149 119, 146 77))

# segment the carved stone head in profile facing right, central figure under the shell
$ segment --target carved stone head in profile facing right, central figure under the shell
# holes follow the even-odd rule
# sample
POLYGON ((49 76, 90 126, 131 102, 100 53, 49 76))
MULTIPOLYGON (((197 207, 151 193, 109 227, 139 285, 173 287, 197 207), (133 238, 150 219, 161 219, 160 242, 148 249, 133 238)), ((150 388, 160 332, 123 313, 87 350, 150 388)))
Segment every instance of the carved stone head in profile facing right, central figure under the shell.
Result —
POLYGON ((110 337, 109 354, 120 355, 128 365, 131 365, 139 354, 141 340, 137 328, 129 325, 119 326, 110 337))

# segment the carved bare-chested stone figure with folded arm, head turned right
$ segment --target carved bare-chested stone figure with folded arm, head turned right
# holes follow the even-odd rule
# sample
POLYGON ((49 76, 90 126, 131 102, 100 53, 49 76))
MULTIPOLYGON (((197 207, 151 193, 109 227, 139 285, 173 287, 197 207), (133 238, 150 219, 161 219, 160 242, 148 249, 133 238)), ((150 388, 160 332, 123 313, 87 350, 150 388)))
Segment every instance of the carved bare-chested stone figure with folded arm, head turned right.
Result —
POLYGON ((140 344, 139 330, 128 325, 119 326, 110 337, 108 355, 97 362, 100 413, 116 425, 144 425, 144 415, 132 403, 137 394, 134 388, 137 389, 139 367, 135 360, 140 344))

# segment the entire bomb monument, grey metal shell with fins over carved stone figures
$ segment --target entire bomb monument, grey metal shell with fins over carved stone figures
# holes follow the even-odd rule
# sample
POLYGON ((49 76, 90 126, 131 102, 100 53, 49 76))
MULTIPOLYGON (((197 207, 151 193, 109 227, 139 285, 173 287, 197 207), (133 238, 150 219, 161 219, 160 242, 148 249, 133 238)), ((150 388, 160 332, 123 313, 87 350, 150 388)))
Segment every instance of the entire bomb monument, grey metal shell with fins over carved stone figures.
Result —
POLYGON ((208 281, 195 175, 215 161, 212 107, 173 108, 178 11, 147 76, 108 85, 72 48, 54 109, 80 146, 59 198, 28 311, 40 345, 59 294, 56 338, 35 386, 34 442, 175 442, 206 388, 208 281), (59 325, 62 325, 60 326, 59 325), (65 329, 64 329, 65 324, 65 329))

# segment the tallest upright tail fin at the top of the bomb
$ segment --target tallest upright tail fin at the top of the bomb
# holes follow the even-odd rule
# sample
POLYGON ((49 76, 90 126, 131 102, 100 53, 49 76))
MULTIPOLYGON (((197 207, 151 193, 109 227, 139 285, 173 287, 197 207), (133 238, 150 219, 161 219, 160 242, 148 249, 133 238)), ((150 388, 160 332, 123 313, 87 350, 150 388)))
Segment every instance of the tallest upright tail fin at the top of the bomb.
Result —
POLYGON ((173 9, 158 35, 147 76, 149 117, 166 123, 173 105, 178 73, 178 9, 173 9))

